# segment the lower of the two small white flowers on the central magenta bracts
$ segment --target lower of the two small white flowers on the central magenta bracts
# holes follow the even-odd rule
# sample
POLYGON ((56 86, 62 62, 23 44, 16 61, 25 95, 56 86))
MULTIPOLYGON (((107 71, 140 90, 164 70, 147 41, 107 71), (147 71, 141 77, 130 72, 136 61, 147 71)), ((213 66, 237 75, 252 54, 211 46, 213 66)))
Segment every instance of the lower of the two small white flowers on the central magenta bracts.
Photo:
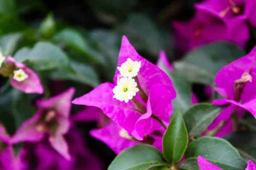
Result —
POLYGON ((136 92, 139 91, 137 83, 131 77, 122 77, 117 81, 117 85, 113 88, 113 93, 115 94, 113 98, 126 103, 136 95, 136 92))

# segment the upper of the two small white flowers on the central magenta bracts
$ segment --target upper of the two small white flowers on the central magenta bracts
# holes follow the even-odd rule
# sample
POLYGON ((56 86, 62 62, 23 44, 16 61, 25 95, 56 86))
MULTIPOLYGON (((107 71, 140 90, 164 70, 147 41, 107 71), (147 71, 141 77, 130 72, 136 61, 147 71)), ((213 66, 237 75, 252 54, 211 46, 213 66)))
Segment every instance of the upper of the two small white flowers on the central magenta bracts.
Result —
POLYGON ((130 58, 122 63, 121 67, 117 67, 122 77, 135 77, 140 71, 141 62, 133 61, 130 58))

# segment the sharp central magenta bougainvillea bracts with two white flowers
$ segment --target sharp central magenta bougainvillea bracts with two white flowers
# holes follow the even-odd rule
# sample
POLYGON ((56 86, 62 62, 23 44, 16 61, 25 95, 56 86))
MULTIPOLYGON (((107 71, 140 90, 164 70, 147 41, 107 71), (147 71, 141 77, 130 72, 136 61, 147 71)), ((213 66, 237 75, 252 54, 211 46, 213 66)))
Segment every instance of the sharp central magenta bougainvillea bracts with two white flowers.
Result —
POLYGON ((114 85, 103 83, 73 103, 101 108, 138 140, 154 130, 163 131, 160 122, 169 122, 170 101, 176 97, 169 77, 141 57, 125 36, 117 66, 114 85))

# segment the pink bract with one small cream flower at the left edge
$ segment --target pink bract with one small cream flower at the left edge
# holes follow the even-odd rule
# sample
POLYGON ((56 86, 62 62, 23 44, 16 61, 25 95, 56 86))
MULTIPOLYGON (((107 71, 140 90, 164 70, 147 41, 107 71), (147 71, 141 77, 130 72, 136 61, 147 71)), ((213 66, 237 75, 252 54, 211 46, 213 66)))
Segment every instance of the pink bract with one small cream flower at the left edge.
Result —
MULTIPOLYGON (((0 55, 1 58, 1 55, 0 55)), ((11 56, 6 57, 6 64, 1 64, 0 73, 11 76, 11 85, 24 93, 43 94, 44 88, 35 72, 25 64, 16 62, 11 56)))

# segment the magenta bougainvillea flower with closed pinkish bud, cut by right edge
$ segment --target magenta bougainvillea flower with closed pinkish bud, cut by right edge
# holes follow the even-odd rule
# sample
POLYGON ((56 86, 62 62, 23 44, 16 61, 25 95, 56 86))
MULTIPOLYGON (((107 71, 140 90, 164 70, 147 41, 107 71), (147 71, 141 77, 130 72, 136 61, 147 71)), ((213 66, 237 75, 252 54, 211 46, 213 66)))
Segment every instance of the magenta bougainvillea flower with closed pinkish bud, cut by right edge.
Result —
POLYGON ((225 108, 218 116, 223 120, 229 119, 233 110, 239 106, 256 117, 256 67, 255 67, 256 47, 244 57, 222 68, 215 77, 218 87, 215 90, 224 99, 215 99, 213 104, 231 105, 225 108))

